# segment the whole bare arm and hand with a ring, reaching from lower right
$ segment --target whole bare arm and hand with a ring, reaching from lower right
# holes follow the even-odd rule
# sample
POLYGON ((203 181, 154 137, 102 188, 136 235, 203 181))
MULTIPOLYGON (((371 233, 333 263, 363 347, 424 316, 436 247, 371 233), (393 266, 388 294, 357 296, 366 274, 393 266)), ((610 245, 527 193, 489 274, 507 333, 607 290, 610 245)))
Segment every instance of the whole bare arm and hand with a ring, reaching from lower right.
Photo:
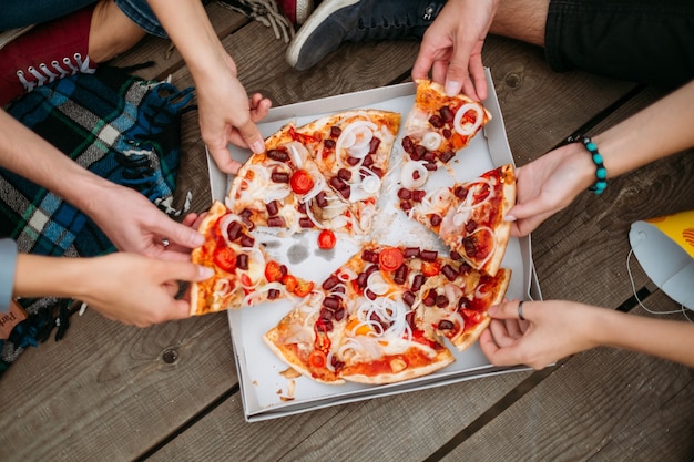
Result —
POLYGON ((639 351, 694 368, 694 324, 627 315, 584 304, 518 300, 494 307, 480 347, 499 366, 549 363, 594 347, 639 351))

